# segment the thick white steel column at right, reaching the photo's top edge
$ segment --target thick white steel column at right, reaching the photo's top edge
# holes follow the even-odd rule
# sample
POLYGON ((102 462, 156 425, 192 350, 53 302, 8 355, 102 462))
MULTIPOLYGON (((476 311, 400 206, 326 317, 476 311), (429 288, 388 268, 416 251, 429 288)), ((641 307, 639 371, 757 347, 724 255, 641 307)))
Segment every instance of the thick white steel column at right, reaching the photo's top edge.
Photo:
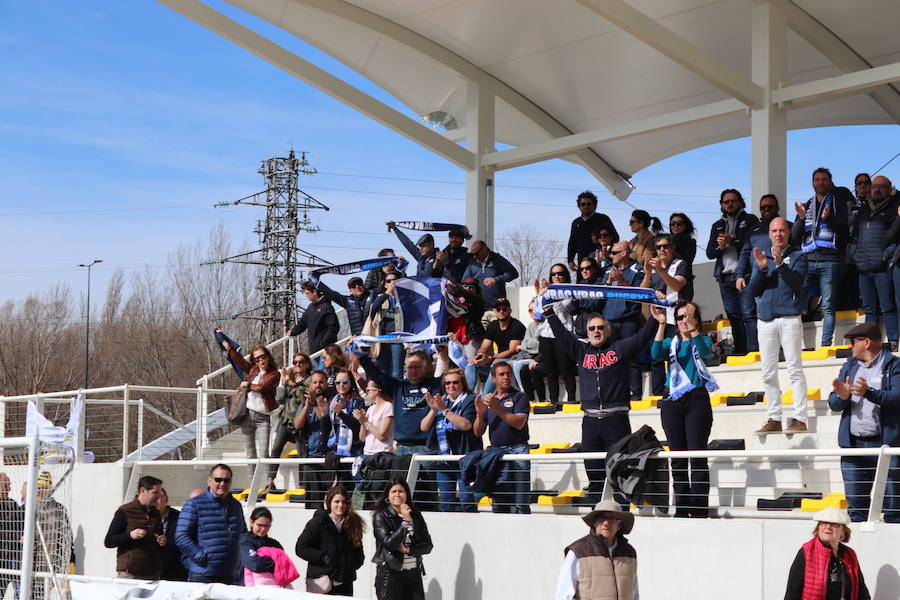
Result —
POLYGON ((765 90, 765 103, 750 116, 751 196, 753 212, 759 198, 775 194, 781 215, 787 215, 787 111, 770 102, 771 92, 786 83, 787 17, 784 0, 753 0, 752 75, 765 90))

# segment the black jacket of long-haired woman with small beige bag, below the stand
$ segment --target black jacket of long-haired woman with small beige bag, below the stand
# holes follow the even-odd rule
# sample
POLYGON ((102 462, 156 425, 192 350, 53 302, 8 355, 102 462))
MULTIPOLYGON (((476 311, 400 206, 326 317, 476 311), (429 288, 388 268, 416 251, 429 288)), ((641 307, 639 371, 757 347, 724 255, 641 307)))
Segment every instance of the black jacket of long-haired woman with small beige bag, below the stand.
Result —
POLYGON ((362 545, 354 547, 350 537, 343 530, 338 531, 324 508, 317 509, 303 528, 294 551, 308 563, 307 577, 328 575, 342 583, 355 581, 356 572, 366 560, 362 545))

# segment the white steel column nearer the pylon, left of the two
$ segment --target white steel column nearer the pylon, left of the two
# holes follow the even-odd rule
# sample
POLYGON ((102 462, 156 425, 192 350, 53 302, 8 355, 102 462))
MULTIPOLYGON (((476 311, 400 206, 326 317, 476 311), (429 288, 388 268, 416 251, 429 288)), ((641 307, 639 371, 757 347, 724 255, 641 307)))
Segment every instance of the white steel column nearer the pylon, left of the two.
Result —
POLYGON ((466 173, 466 225, 474 240, 494 243, 494 168, 482 166, 482 158, 494 151, 494 92, 477 82, 467 88, 466 145, 475 155, 474 168, 466 173))

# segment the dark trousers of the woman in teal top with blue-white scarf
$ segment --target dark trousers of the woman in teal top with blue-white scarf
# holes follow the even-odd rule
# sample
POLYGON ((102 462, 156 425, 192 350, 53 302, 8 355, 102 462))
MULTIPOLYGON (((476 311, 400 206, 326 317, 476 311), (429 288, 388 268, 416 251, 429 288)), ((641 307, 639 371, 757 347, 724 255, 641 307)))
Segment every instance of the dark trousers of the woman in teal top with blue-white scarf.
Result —
MULTIPOLYGON (((712 429, 712 406, 706 388, 695 388, 678 400, 663 400, 659 407, 670 450, 706 450, 712 429)), ((675 516, 709 516, 707 460, 673 458, 671 466, 675 516)))

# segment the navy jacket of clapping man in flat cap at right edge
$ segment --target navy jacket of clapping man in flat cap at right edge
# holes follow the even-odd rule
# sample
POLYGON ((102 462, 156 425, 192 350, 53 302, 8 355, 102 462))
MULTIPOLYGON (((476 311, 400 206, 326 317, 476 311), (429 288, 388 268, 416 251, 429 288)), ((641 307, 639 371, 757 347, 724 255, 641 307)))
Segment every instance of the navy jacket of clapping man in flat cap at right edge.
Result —
MULTIPOLYGON (((881 407, 881 443, 888 446, 900 446, 900 358, 890 352, 885 353, 884 363, 881 365, 881 389, 869 388, 866 399, 881 407)), ((838 379, 856 381, 856 372, 859 370, 859 361, 852 356, 847 359, 838 379)), ((828 396, 828 406, 831 410, 840 410, 841 424, 838 425, 838 446, 850 448, 850 405, 851 396, 844 400, 835 392, 828 396)))

